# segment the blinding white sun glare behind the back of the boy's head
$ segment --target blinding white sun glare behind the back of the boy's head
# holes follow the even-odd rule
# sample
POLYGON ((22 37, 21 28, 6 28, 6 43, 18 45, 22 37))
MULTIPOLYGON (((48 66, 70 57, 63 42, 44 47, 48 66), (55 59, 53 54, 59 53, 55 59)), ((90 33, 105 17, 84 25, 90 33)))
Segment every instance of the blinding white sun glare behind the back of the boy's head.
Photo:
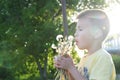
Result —
POLYGON ((110 19, 110 35, 120 33, 120 4, 113 4, 105 10, 110 19))

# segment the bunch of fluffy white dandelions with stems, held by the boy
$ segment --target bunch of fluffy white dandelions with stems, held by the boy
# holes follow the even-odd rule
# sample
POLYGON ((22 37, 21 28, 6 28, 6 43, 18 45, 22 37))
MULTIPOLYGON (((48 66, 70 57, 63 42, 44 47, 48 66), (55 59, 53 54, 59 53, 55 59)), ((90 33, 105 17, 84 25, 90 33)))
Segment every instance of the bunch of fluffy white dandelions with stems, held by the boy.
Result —
MULTIPOLYGON (((56 40, 58 41, 58 44, 52 44, 52 48, 56 49, 56 52, 58 53, 58 55, 56 55, 54 57, 54 60, 59 60, 61 56, 65 56, 66 54, 69 54, 72 52, 72 48, 73 48, 73 40, 74 37, 72 35, 64 38, 63 35, 58 35, 56 37, 56 40)), ((63 69, 59 69, 58 70, 58 74, 57 77, 59 77, 59 79, 62 78, 62 76, 67 76, 65 71, 63 69)), ((56 78, 57 78, 56 77, 56 78)), ((67 77, 64 77, 65 80, 68 80, 67 77)))

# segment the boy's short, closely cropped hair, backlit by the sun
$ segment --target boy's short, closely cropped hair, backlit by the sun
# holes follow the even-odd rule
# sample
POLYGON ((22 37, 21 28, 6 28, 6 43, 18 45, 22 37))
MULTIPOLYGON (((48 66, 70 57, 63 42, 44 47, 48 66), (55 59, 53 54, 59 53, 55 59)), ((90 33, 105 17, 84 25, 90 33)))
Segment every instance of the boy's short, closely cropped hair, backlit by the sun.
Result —
POLYGON ((103 38, 105 39, 109 33, 110 23, 107 14, 99 9, 90 9, 82 11, 77 19, 86 18, 90 21, 94 27, 98 27, 103 32, 103 38))

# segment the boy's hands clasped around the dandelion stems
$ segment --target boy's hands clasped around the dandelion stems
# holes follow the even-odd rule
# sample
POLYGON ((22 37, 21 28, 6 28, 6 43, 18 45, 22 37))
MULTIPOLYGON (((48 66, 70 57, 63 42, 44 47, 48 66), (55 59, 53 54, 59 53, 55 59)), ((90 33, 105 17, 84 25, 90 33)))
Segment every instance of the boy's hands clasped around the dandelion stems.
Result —
POLYGON ((56 68, 70 69, 74 66, 72 58, 69 55, 64 55, 54 60, 56 68))

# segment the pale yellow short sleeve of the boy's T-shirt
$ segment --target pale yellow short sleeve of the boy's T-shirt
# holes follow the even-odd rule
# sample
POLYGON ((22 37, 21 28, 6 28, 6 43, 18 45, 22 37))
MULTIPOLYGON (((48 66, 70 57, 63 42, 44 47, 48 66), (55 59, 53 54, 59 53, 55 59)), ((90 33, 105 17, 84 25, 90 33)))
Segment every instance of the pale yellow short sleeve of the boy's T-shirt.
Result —
POLYGON ((111 79, 113 69, 114 65, 110 56, 100 57, 90 71, 89 80, 115 80, 111 79))

